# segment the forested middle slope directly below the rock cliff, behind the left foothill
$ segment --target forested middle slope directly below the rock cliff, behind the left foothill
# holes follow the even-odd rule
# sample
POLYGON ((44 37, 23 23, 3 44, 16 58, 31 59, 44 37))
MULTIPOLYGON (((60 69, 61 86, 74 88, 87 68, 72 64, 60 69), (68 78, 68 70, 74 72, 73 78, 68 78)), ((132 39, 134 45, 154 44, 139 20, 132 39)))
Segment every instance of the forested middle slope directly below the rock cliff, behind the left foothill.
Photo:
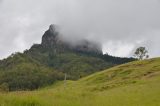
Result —
POLYGON ((56 51, 47 48, 31 48, 25 52, 33 59, 52 67, 60 72, 67 73, 68 79, 79 79, 93 72, 114 66, 99 57, 89 53, 75 52, 72 50, 56 51))

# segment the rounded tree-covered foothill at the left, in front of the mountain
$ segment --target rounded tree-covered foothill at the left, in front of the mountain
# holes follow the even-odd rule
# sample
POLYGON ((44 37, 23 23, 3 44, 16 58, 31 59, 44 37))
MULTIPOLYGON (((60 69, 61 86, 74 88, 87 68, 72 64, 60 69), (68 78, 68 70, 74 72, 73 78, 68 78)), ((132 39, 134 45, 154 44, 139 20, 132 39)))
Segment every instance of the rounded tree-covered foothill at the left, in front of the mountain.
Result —
POLYGON ((64 74, 17 53, 0 62, 1 90, 33 90, 62 80, 64 74))

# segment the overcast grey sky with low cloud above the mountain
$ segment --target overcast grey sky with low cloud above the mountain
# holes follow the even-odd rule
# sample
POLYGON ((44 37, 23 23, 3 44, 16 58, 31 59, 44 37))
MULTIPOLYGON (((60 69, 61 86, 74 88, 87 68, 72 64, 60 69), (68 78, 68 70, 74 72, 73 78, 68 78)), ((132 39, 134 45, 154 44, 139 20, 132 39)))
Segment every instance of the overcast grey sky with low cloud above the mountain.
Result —
POLYGON ((103 52, 160 56, 160 0, 0 0, 0 59, 41 43, 50 24, 66 40, 89 39, 103 52))

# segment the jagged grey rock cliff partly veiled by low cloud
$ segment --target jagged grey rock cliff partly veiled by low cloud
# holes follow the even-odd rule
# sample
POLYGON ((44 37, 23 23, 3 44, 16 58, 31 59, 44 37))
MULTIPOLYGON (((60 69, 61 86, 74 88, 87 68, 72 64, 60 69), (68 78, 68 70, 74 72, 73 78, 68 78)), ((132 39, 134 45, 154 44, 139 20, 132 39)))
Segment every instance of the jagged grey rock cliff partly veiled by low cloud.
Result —
POLYGON ((87 40, 81 40, 78 44, 71 45, 59 35, 58 27, 54 24, 50 25, 49 29, 42 36, 41 45, 45 48, 52 48, 57 51, 64 51, 66 49, 79 51, 79 52, 92 52, 96 54, 102 54, 102 47, 100 44, 90 42, 87 40))

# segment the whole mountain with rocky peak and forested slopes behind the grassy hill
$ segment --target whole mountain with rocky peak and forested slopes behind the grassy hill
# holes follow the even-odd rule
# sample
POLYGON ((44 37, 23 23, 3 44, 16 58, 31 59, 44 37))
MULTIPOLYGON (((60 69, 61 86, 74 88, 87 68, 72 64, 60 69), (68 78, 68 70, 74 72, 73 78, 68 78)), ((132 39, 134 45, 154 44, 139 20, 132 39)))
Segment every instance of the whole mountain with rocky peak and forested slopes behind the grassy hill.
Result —
POLYGON ((8 90, 33 90, 57 80, 77 80, 118 64, 134 61, 103 55, 100 44, 80 40, 65 41, 56 25, 50 25, 41 44, 24 53, 15 53, 0 61, 0 87, 8 90))

